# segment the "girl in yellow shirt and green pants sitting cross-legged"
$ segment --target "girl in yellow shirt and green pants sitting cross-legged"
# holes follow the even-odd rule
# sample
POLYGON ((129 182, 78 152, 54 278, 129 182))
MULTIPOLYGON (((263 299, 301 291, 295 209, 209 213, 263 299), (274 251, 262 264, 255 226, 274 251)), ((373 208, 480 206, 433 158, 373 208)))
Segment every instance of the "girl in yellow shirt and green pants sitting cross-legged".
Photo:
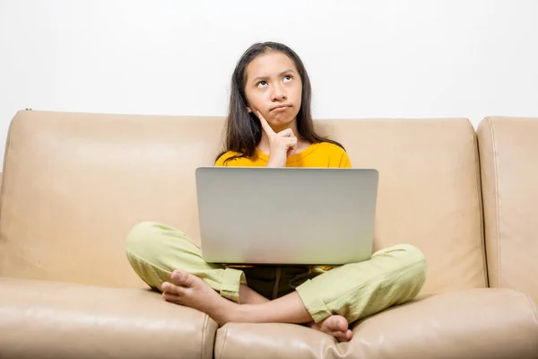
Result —
MULTIPOLYGON (((314 131, 310 82, 299 56, 274 42, 257 43, 239 59, 225 147, 217 166, 351 167, 341 144, 314 131)), ((308 324, 339 341, 351 339, 351 322, 412 300, 426 278, 421 251, 404 244, 334 268, 205 263, 184 233, 150 222, 129 232, 126 253, 166 301, 204 311, 220 326, 308 324)))

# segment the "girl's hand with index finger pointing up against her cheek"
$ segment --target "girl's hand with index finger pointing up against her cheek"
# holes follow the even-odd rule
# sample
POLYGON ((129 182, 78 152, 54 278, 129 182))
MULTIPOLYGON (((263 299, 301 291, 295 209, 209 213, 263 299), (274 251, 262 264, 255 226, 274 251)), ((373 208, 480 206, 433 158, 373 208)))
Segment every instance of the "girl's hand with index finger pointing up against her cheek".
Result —
POLYGON ((291 128, 275 133, 262 114, 257 111, 265 134, 269 138, 269 162, 267 167, 286 167, 286 160, 297 150, 297 137, 291 128))

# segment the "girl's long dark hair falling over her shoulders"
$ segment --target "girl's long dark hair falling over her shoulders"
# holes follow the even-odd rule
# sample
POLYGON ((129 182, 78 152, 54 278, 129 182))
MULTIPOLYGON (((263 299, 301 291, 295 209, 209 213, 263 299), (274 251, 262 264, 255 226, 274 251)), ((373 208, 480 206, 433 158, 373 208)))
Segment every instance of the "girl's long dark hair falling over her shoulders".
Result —
POLYGON ((250 158, 256 152, 256 145, 262 139, 262 126, 256 115, 247 111, 247 96, 245 94, 247 66, 256 57, 270 51, 280 51, 290 57, 299 71, 302 82, 300 109, 297 114, 297 132, 299 136, 312 144, 329 142, 343 148, 342 144, 319 136, 314 130, 310 109, 312 97, 310 79, 300 57, 291 48, 281 43, 258 42, 247 48, 247 51, 239 58, 231 76, 230 109, 226 121, 224 150, 217 155, 216 160, 229 151, 239 154, 228 158, 226 161, 239 157, 250 158))

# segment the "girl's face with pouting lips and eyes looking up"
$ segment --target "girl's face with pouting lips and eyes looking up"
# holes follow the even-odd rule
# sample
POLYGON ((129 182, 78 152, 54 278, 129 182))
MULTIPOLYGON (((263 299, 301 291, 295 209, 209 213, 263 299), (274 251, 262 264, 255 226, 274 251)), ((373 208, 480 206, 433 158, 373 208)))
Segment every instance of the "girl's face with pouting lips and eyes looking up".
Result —
POLYGON ((302 83, 293 60, 280 51, 256 57, 247 66, 245 84, 248 112, 259 111, 273 127, 297 118, 302 83))

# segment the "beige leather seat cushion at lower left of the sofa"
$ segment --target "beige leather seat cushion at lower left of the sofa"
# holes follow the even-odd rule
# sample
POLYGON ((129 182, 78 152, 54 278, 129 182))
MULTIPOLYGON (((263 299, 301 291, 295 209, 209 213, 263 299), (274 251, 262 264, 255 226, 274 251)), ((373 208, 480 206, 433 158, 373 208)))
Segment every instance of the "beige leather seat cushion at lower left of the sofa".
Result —
POLYGON ((213 358, 216 329, 150 290, 0 278, 0 357, 213 358))

